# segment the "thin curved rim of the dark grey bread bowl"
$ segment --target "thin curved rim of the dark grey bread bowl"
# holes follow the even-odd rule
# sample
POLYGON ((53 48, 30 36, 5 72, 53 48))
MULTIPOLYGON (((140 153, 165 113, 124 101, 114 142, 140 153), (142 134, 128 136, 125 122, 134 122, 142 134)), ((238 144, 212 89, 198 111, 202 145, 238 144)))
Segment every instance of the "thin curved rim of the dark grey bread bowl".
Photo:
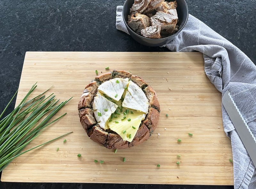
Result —
MULTIPOLYGON (((172 0, 171 0, 171 1, 172 1, 172 0)), ((189 15, 189 13, 188 13, 188 4, 187 4, 187 2, 186 2, 185 0, 183 0, 183 1, 184 1, 184 3, 185 3, 186 9, 187 9, 187 18, 186 18, 186 20, 185 20, 185 23, 184 23, 184 25, 180 28, 179 31, 177 31, 176 33, 174 33, 174 34, 172 34, 172 35, 170 35, 170 36, 168 36, 168 37, 161 38, 161 39, 150 39, 150 38, 147 38, 147 37, 144 37, 144 36, 142 36, 142 35, 139 35, 139 34, 135 33, 135 32, 127 25, 127 23, 125 22, 125 19, 124 19, 124 11, 122 10, 122 17, 123 17, 124 24, 125 24, 127 30, 130 30, 133 34, 135 34, 135 35, 137 35, 137 36, 139 36, 139 37, 142 37, 142 39, 147 39, 147 40, 150 40, 150 41, 162 41, 162 40, 166 40, 166 39, 168 39, 168 38, 174 37, 174 36, 178 35, 178 34, 181 32, 181 30, 185 27, 185 25, 186 25, 187 22, 188 22, 188 15, 189 15)), ((128 0, 125 0, 124 5, 125 5, 127 2, 128 2, 128 0)), ((123 8, 124 8, 124 5, 123 5, 123 8)))

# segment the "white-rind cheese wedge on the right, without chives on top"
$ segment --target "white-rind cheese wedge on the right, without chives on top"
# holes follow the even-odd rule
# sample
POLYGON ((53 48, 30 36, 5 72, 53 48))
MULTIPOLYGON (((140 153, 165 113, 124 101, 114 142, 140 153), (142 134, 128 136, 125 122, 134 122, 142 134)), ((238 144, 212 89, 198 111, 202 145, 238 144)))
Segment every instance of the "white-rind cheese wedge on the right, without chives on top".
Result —
POLYGON ((122 106, 139 112, 148 113, 148 98, 138 85, 130 81, 122 106))

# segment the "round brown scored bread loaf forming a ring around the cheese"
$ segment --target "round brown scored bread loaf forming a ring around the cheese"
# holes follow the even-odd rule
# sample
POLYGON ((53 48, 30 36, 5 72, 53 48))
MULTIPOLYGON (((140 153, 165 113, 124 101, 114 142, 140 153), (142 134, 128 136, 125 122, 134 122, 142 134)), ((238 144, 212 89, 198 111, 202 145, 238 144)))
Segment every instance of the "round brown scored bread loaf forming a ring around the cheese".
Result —
POLYGON ((144 142, 153 134, 158 124, 160 106, 156 92, 143 79, 127 71, 113 70, 112 72, 95 77, 95 79, 85 87, 78 103, 78 112, 81 125, 90 139, 108 149, 126 149, 144 142), (142 120, 132 142, 124 141, 119 134, 110 129, 102 129, 93 114, 92 105, 94 97, 98 92, 98 87, 103 82, 113 78, 129 78, 142 89, 148 98, 148 113, 145 119, 142 120))

